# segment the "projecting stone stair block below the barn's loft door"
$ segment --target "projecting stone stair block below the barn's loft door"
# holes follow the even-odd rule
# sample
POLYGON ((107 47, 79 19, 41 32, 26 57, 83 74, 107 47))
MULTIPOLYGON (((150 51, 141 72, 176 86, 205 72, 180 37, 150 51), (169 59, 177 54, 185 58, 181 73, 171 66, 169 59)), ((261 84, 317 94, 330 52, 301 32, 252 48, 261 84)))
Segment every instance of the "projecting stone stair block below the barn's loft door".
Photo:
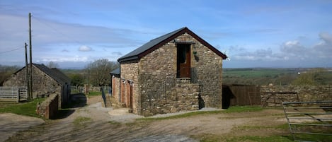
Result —
POLYGON ((172 81, 164 82, 145 76, 142 84, 142 115, 165 114, 199 109, 199 85, 197 83, 172 81))

